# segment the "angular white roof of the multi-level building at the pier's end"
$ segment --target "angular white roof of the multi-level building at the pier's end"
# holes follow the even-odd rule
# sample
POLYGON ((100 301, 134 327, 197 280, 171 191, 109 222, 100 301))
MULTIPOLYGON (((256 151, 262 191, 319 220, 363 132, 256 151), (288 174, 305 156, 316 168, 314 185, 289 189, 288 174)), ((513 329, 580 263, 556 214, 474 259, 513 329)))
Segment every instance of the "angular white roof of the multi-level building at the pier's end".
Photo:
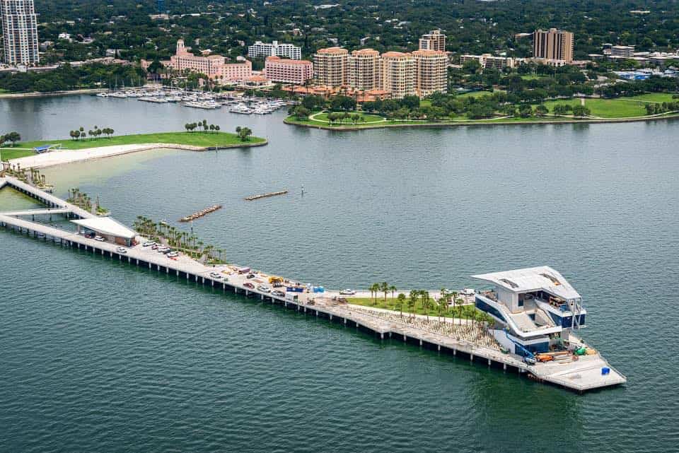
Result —
POLYGON ((482 273, 472 276, 479 280, 489 281, 513 293, 545 290, 560 298, 580 298, 579 293, 566 281, 564 276, 550 266, 530 267, 494 273, 482 273))

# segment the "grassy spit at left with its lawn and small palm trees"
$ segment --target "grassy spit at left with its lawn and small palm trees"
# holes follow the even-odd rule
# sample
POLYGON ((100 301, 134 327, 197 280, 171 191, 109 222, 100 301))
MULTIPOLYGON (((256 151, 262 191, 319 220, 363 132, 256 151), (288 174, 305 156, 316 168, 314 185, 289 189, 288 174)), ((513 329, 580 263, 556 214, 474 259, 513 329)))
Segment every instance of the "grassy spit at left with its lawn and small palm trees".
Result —
MULTIPOLYGON (((105 131, 104 129, 94 129, 94 131, 105 131)), ((195 129, 195 126, 192 128, 195 129)), ((261 137, 252 136, 250 129, 237 128, 236 134, 228 132, 204 130, 191 131, 187 129, 186 132, 159 132, 156 134, 131 134, 120 136, 100 137, 100 134, 85 134, 83 138, 76 136, 71 131, 70 139, 54 139, 54 140, 39 140, 39 141, 17 141, 11 146, 4 145, 0 148, 0 159, 7 161, 17 158, 25 158, 28 156, 37 156, 37 152, 54 155, 55 153, 62 154, 64 151, 83 151, 83 150, 99 150, 99 148, 107 148, 100 153, 98 157, 106 157, 107 155, 115 155, 120 153, 141 151, 142 149, 149 149, 151 147, 163 148, 182 148, 191 151, 205 151, 208 149, 224 149, 224 148, 241 148, 245 146, 262 146, 268 142, 261 137), (138 146, 134 148, 134 146, 138 146), (113 148, 118 147, 121 152, 113 151, 113 148)), ((110 129, 112 131, 112 129, 110 129)), ((97 156, 91 156, 97 157, 97 156)))

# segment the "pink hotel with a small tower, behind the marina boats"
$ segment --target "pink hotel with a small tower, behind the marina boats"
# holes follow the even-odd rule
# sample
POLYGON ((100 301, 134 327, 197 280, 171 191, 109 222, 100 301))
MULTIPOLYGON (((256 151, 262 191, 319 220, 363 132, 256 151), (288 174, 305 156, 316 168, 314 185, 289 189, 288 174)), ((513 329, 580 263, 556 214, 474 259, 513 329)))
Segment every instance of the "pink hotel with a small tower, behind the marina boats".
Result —
POLYGON ((212 81, 228 83, 243 81, 253 75, 253 64, 249 60, 226 63, 226 57, 209 55, 197 57, 184 46, 184 40, 177 41, 177 51, 167 64, 175 71, 195 71, 204 73, 212 81))

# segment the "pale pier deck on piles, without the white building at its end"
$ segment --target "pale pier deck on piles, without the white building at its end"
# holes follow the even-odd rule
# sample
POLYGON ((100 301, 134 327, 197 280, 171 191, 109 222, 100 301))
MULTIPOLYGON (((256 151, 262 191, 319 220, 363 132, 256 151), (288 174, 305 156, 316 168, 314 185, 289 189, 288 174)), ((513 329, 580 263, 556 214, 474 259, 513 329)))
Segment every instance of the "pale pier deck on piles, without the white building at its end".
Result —
POLYGON ((399 316, 398 313, 387 310, 342 303, 338 298, 332 297, 332 293, 294 293, 294 299, 291 298, 293 293, 287 293, 288 297, 274 295, 257 289, 257 276, 254 279, 248 279, 245 274, 238 273, 234 266, 206 266, 184 255, 170 259, 152 250, 151 247, 143 247, 143 245, 120 247, 112 242, 98 242, 73 231, 24 220, 17 216, 33 216, 33 218, 52 214, 67 218, 93 218, 95 216, 14 178, 0 178, 0 188, 5 185, 54 208, 0 213, 0 226, 22 235, 54 242, 62 247, 100 254, 112 260, 126 261, 130 265, 173 275, 177 279, 192 281, 197 285, 209 286, 225 293, 233 292, 244 295, 246 298, 268 301, 290 310, 323 317, 329 322, 338 322, 368 331, 380 339, 402 340, 440 353, 468 358, 471 362, 497 367, 505 372, 518 372, 538 382, 549 382, 576 392, 623 384, 627 381, 622 374, 610 367, 599 353, 586 355, 577 361, 568 363, 530 365, 521 360, 518 355, 503 353, 492 336, 485 334, 485 329, 475 330, 473 325, 460 322, 459 319, 455 322, 448 319, 446 322, 439 323, 434 318, 428 318, 425 321, 424 317, 399 316), (254 286, 254 288, 246 285, 254 286), (602 375, 600 372, 602 367, 610 368, 610 373, 602 375))

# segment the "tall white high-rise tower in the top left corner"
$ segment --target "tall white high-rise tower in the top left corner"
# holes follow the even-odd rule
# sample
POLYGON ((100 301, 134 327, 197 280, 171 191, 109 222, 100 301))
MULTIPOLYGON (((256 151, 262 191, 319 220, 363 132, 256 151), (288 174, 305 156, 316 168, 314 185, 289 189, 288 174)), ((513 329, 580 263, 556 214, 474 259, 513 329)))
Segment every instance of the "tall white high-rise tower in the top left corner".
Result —
POLYGON ((0 0, 0 21, 7 64, 33 66, 37 52, 37 17, 33 0, 0 0))

